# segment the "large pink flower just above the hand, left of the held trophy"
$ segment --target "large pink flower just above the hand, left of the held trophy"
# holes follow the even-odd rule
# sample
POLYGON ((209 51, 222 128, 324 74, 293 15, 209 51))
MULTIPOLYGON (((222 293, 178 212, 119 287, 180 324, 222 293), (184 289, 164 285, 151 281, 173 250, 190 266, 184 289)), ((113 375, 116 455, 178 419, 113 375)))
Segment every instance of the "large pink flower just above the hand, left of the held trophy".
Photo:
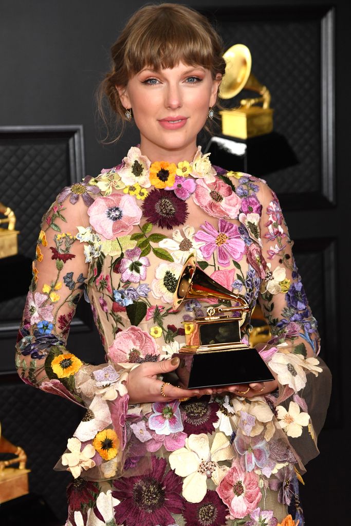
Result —
POLYGON ((108 348, 108 356, 113 362, 143 363, 157 361, 159 351, 154 338, 132 325, 116 334, 108 348))

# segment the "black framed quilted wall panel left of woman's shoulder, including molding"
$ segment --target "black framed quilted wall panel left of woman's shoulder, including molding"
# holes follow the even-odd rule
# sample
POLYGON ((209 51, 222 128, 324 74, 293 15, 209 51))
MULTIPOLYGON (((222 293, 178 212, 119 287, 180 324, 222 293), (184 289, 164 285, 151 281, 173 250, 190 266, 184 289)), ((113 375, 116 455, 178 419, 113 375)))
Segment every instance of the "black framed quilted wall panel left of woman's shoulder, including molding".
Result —
MULTIPOLYGON (((12 282, 11 294, 5 284, 0 295, 0 339, 4 339, 15 337, 21 323, 42 214, 64 186, 85 175, 83 125, 0 126, 0 169, 1 200, 15 211, 20 231, 18 255, 0 260, 2 271, 8 262, 12 282)), ((91 330, 87 307, 78 307, 72 332, 91 330)))

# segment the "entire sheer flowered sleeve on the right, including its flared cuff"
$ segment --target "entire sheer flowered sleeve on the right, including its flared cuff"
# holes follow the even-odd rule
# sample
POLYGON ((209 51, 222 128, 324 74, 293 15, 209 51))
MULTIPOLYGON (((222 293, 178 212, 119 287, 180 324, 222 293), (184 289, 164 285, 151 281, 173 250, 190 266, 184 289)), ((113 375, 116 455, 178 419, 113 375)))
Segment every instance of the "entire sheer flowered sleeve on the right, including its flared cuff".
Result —
POLYGON ((317 322, 298 274, 279 201, 267 185, 261 191, 262 254, 267 268, 259 302, 272 339, 265 348, 261 346, 260 353, 279 383, 279 394, 272 396, 279 423, 306 463, 318 454, 316 436, 325 421, 331 377, 317 358, 317 322))

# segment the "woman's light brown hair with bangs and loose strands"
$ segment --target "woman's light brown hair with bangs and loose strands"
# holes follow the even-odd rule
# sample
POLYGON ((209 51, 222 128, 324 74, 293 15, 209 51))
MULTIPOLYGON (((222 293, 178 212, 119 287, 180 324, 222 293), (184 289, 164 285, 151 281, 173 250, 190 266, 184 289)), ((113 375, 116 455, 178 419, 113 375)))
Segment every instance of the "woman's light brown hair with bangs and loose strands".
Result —
POLYGON ((121 136, 126 120, 116 86, 126 87, 144 67, 157 71, 183 62, 209 69, 213 78, 225 72, 222 39, 205 16, 182 4, 150 4, 138 9, 111 47, 111 57, 111 70, 98 88, 97 103, 107 127, 108 109, 122 123, 114 141, 121 136))

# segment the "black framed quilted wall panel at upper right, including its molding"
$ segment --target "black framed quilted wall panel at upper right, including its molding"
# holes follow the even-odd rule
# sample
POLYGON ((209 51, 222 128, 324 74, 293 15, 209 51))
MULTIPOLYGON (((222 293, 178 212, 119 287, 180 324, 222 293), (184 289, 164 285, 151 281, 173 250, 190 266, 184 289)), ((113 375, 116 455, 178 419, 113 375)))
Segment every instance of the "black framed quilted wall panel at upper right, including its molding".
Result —
MULTIPOLYGON (((274 131, 286 139, 298 158, 296 166, 272 166, 272 173, 252 175, 267 180, 284 210, 334 208, 335 7, 233 5, 200 11, 216 19, 226 47, 238 42, 249 47, 252 73, 272 95, 274 131)), ((221 102, 235 107, 240 98, 242 94, 221 102)), ((230 169, 235 170, 234 157, 230 169)))

